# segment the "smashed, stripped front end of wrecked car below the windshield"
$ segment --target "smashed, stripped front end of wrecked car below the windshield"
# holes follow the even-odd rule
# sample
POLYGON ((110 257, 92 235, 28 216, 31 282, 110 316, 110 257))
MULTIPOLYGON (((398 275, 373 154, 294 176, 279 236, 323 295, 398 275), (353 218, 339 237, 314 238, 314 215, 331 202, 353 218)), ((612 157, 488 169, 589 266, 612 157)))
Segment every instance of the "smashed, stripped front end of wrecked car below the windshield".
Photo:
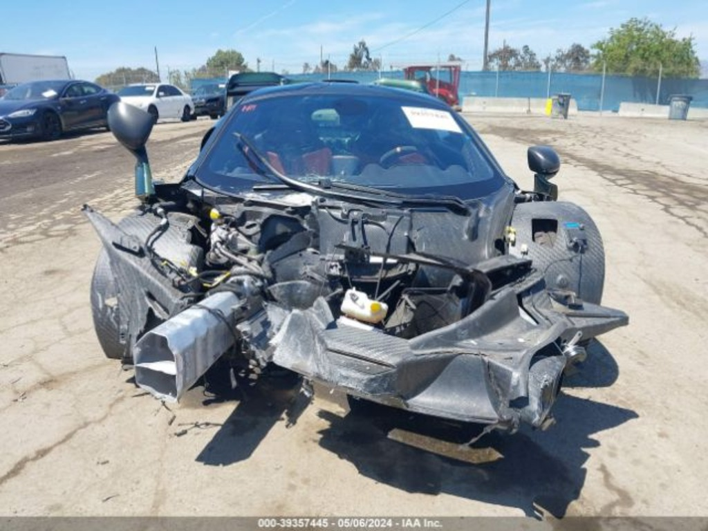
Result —
MULTIPOLYGON (((162 202, 122 227, 86 209, 108 244, 119 307, 130 309, 121 356, 137 384, 176 401, 225 353, 413 411, 541 426, 566 365, 584 356, 578 340, 626 319, 561 287, 547 292, 528 251, 544 240, 484 241, 479 225, 495 221, 479 210, 286 199, 215 201, 194 214, 189 202, 162 202), (526 250, 484 258, 489 246, 526 250)), ((555 237, 577 240, 570 231, 555 237)), ((596 266, 576 243, 556 266, 573 256, 596 266)))

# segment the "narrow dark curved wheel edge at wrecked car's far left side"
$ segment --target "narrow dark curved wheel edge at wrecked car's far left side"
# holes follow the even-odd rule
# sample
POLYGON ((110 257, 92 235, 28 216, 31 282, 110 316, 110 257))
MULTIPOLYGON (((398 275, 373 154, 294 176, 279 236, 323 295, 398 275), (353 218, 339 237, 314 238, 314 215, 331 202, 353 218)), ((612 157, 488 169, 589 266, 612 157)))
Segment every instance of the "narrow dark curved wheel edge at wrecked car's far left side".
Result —
POLYGON ((98 343, 106 358, 122 360, 125 346, 120 343, 118 287, 110 269, 108 253, 101 249, 91 278, 91 314, 98 343))

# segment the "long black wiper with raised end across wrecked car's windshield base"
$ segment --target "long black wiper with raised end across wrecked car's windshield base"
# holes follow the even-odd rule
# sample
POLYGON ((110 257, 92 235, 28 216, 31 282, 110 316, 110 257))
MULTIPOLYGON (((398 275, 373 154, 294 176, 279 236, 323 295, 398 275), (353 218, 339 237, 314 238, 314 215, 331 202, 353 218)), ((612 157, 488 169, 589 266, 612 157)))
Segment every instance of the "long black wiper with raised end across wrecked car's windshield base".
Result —
POLYGON ((292 190, 297 190, 300 192, 313 193, 316 195, 322 195, 324 197, 336 198, 339 200, 357 200, 362 202, 379 202, 386 205, 429 205, 429 206, 444 206, 450 208, 450 210, 462 211, 464 214, 469 213, 469 205, 459 198, 451 195, 441 195, 441 196, 430 196, 430 195, 405 195, 402 193, 390 192, 388 190, 381 190, 380 188, 374 188, 372 186, 365 186, 360 184, 351 183, 341 183, 339 181, 331 181, 328 178, 321 178, 318 184, 304 183, 297 179, 288 177, 285 173, 275 169, 273 164, 258 151, 258 149, 253 146, 253 142, 248 137, 241 135, 239 132, 234 132, 236 139, 244 144, 245 147, 249 149, 249 152, 244 151, 244 156, 249 156, 252 154, 253 157, 268 170, 270 176, 275 177, 280 181, 278 184, 267 184, 267 185, 255 185, 253 190, 282 190, 285 188, 291 188, 292 190), (341 190, 348 190, 350 192, 360 192, 369 195, 374 195, 375 198, 371 198, 367 195, 357 195, 350 193, 338 193, 333 190, 333 188, 338 188, 341 190))

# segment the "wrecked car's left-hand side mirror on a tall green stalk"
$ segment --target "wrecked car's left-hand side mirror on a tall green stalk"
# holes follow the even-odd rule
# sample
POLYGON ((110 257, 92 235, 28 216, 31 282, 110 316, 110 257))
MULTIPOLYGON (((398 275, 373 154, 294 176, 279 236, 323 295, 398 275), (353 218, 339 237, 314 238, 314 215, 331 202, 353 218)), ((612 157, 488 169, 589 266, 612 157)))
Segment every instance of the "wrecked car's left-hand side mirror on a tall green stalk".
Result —
POLYGON ((107 118, 113 136, 135 156, 135 195, 147 200, 155 193, 145 149, 154 124, 152 115, 124 101, 117 101, 108 108, 107 118))

